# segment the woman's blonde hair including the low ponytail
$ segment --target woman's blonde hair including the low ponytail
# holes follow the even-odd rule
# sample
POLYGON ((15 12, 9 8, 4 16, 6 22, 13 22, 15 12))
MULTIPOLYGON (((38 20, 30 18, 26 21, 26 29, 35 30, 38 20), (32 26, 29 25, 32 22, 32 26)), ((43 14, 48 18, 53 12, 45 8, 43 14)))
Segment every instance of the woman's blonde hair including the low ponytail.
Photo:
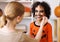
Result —
MULTIPOLYGON (((2 12, 2 10, 0 9, 2 12)), ((24 6, 18 2, 10 2, 6 5, 4 9, 4 15, 0 18, 0 28, 2 28, 6 23, 7 19, 13 20, 17 16, 22 16, 24 14, 24 6)))

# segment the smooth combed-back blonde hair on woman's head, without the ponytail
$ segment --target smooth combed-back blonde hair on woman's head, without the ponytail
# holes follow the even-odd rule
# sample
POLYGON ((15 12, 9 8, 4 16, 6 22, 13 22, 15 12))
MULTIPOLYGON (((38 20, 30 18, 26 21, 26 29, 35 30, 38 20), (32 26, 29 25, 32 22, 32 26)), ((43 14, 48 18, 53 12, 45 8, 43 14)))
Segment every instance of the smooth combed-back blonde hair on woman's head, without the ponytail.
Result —
POLYGON ((6 5, 4 13, 7 19, 13 20, 24 14, 24 6, 19 2, 10 2, 6 5))

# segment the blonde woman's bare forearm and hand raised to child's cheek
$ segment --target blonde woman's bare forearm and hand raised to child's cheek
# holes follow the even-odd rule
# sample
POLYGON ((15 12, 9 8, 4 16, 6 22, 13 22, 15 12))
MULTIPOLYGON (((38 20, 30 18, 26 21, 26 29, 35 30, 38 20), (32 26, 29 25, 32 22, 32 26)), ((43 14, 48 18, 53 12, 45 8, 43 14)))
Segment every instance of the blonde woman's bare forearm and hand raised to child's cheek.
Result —
POLYGON ((40 29, 38 30, 38 33, 37 33, 37 35, 36 35, 36 37, 35 37, 35 39, 37 39, 38 41, 41 39, 42 31, 43 31, 43 26, 44 26, 47 22, 48 22, 48 19, 47 19, 47 17, 44 16, 44 17, 42 18, 41 23, 40 23, 40 29))

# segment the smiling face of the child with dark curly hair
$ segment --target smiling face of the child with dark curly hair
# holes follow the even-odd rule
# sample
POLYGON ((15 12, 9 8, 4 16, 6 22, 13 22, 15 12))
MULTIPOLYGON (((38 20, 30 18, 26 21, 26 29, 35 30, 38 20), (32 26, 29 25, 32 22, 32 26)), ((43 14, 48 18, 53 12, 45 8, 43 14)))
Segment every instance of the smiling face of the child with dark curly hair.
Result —
POLYGON ((36 20, 41 21, 43 16, 45 16, 44 8, 40 5, 38 5, 35 8, 35 18, 36 18, 36 20))

